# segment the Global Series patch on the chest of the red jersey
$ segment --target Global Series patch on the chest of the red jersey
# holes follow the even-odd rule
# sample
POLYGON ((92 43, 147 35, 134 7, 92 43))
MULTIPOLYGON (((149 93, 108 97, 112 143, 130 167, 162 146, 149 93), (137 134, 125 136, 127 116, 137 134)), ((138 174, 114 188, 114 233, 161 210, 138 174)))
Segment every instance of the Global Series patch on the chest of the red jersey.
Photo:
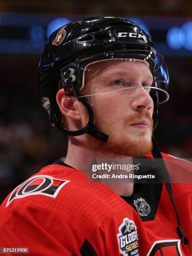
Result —
POLYGON ((117 234, 119 251, 124 256, 139 256, 137 228, 133 220, 124 218, 117 234))

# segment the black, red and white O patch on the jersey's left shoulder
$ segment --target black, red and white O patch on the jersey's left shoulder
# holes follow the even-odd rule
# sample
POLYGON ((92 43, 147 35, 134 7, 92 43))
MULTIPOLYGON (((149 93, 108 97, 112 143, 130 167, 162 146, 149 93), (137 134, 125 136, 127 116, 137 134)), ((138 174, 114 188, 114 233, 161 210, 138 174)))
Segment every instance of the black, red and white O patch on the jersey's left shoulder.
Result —
POLYGON ((45 195, 55 198, 58 192, 65 186, 69 180, 56 179, 48 175, 37 175, 32 177, 18 187, 16 187, 11 193, 6 207, 13 199, 19 199, 21 197, 27 197, 30 195, 45 195))

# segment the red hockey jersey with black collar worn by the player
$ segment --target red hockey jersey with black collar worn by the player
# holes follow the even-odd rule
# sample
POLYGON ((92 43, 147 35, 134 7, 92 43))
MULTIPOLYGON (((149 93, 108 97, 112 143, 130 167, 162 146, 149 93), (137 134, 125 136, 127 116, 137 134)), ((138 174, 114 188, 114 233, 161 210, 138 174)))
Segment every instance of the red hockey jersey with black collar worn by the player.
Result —
POLYGON ((120 197, 60 164, 44 167, 4 200, 0 247, 28 247, 38 256, 192 255, 192 184, 172 184, 188 246, 164 184, 135 184, 131 197, 120 197))

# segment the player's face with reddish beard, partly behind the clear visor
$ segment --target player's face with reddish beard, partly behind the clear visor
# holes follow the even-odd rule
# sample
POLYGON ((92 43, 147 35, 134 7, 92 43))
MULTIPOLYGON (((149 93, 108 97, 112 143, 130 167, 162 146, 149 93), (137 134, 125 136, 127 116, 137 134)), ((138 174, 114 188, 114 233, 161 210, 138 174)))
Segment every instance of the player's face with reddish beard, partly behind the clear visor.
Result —
POLYGON ((152 149, 153 100, 143 86, 152 82, 152 74, 144 61, 114 59, 88 66, 81 93, 107 92, 87 98, 93 108, 96 127, 109 135, 102 147, 101 142, 90 136, 86 136, 88 143, 119 156, 140 157, 149 153, 152 149), (117 90, 126 87, 131 89, 117 90))

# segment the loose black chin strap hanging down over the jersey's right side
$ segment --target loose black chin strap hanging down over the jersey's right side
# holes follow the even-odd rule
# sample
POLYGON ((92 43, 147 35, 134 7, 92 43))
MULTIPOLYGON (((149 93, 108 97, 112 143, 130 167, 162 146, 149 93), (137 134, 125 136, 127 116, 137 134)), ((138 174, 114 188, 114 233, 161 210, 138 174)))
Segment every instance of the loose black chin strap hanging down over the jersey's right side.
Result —
POLYGON ((159 150, 159 147, 157 145, 157 141, 154 138, 154 134, 153 134, 153 137, 152 137, 152 141, 153 141, 152 155, 153 155, 156 163, 160 167, 161 175, 164 179, 164 183, 165 183, 165 186, 167 188, 167 192, 168 192, 168 194, 169 194, 169 196, 172 200, 172 204, 174 206, 174 210, 175 210, 175 213, 177 215, 177 223, 178 223, 177 233, 178 233, 182 243, 189 244, 189 241, 188 241, 187 237, 184 235, 184 231, 181 228, 181 224, 180 224, 180 220, 179 220, 179 214, 177 212, 177 207, 176 207, 176 204, 174 202, 174 197, 173 197, 173 192, 172 192, 172 187, 171 187, 171 182, 170 182, 169 174, 168 174, 168 171, 167 171, 167 167, 165 166, 162 154, 161 154, 161 152, 159 150))

